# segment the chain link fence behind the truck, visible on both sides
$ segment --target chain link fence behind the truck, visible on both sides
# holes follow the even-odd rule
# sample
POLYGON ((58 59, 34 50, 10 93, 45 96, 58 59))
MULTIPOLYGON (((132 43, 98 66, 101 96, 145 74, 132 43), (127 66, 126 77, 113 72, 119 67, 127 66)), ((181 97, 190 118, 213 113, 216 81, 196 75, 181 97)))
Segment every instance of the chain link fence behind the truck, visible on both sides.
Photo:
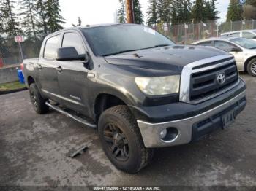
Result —
MULTIPOLYGON (((158 23, 154 29, 169 36, 177 44, 191 44, 200 39, 217 37, 228 31, 256 29, 256 20, 241 20, 236 22, 218 23, 184 23, 178 26, 170 26, 167 23, 158 23)), ((43 37, 40 39, 26 39, 21 42, 23 58, 38 58, 43 37)), ((0 68, 22 63, 21 52, 14 36, 0 37, 0 68)))

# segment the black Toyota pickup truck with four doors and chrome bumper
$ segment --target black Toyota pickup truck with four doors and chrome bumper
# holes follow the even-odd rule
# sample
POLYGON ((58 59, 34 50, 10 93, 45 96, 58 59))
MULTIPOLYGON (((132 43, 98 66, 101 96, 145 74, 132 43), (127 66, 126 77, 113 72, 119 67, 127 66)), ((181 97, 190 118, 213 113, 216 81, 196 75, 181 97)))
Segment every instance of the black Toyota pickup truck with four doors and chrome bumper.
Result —
POLYGON ((35 111, 55 109, 96 128, 105 155, 129 173, 156 147, 227 128, 246 106, 232 55, 177 45, 146 26, 67 28, 23 65, 35 111))

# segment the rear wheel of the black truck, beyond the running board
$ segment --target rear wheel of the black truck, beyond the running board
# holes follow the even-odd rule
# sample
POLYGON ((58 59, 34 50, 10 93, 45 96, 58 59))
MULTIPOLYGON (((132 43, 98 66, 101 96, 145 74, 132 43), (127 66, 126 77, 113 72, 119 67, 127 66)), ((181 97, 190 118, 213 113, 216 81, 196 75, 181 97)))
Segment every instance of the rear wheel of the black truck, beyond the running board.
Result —
POLYGON ((34 111, 36 111, 38 114, 45 114, 48 112, 49 107, 45 105, 45 101, 47 100, 42 98, 42 95, 39 93, 35 83, 29 86, 29 95, 34 111))

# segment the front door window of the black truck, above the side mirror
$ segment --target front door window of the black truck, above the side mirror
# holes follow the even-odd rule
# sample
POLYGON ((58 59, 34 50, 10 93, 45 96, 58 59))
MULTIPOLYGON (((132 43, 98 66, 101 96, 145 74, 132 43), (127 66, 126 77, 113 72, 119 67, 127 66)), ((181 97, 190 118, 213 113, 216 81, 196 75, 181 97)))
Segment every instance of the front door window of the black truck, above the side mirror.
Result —
POLYGON ((62 47, 75 47, 75 50, 77 50, 79 55, 83 55, 86 53, 80 36, 78 36, 78 34, 75 33, 64 34, 62 47))

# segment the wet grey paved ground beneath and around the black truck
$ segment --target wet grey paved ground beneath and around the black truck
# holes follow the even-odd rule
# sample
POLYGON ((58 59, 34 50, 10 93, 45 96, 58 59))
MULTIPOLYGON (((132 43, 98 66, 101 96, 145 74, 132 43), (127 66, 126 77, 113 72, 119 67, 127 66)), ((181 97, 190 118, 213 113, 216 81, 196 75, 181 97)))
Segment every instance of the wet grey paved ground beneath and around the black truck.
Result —
POLYGON ((208 139, 157 149, 151 165, 125 174, 105 157, 97 131, 59 114, 38 115, 28 91, 1 95, 0 185, 233 185, 256 186, 256 77, 236 124, 208 139), (74 159, 67 153, 89 149, 74 159))

